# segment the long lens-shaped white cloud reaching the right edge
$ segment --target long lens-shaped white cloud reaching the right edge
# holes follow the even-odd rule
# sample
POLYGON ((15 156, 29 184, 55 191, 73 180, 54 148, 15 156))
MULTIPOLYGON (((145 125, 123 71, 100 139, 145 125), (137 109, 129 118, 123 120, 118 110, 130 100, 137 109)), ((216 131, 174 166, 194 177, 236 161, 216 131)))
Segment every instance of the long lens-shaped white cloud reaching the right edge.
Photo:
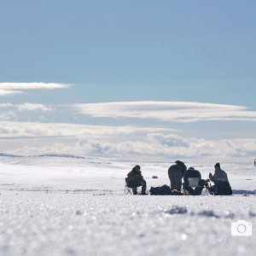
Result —
POLYGON ((174 122, 201 120, 256 120, 247 107, 201 102, 107 102, 73 104, 78 113, 92 117, 160 119, 174 122))

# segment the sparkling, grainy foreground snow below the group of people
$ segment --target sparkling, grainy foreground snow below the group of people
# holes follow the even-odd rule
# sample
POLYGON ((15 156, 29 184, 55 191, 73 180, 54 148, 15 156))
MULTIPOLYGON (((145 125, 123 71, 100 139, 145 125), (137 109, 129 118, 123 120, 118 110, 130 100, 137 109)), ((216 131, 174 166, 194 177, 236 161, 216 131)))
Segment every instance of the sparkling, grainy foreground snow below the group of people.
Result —
POLYGON ((256 197, 0 195, 0 255, 255 255, 256 197), (231 236, 232 222, 253 236, 231 236))

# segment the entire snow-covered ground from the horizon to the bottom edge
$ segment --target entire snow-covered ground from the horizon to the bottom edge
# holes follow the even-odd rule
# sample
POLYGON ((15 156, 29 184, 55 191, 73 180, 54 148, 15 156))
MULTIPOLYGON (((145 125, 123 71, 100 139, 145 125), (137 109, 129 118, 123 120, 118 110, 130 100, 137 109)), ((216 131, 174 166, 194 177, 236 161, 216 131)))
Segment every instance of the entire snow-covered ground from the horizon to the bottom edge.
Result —
POLYGON ((0 156, 0 255, 255 255, 252 163, 221 163, 235 196, 124 195, 136 164, 148 189, 169 184, 172 163, 0 156), (231 236, 241 219, 253 236, 231 236))

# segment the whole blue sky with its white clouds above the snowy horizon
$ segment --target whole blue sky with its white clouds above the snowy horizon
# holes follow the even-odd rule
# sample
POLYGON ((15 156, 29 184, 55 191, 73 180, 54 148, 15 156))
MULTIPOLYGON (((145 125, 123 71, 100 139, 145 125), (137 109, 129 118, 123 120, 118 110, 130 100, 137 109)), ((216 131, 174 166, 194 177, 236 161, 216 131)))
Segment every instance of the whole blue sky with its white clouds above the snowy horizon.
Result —
POLYGON ((253 161, 256 2, 0 1, 0 153, 253 161))

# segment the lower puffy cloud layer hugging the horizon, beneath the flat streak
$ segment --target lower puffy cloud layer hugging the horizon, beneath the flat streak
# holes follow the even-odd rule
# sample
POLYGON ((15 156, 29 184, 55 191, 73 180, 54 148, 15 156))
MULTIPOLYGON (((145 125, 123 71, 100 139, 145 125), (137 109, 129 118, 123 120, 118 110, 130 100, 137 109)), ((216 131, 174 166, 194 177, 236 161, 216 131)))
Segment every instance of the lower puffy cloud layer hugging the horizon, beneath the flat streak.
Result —
MULTIPOLYGON (((154 137, 154 134, 151 136, 154 137)), ((232 157, 249 157, 256 153, 256 139, 247 141, 221 140, 207 141, 195 137, 178 137, 177 135, 156 135, 161 141, 111 143, 108 140, 80 138, 73 146, 64 143, 55 143, 49 147, 28 147, 6 150, 7 154, 40 155, 40 154, 75 154, 82 156, 102 156, 132 159, 198 159, 201 160, 229 160, 232 157), (182 142, 181 145, 171 146, 170 142, 182 142), (183 144, 184 143, 184 144, 183 144)), ((154 138, 155 139, 155 138, 154 138)))

